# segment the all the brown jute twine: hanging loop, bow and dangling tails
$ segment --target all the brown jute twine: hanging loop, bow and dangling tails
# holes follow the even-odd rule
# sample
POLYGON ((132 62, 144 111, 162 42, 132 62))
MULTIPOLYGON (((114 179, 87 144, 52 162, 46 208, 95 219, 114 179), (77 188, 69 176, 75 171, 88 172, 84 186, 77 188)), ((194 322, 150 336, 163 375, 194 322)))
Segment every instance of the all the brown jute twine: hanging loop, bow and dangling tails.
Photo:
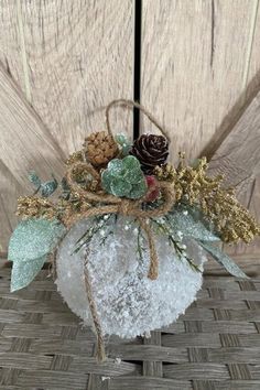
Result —
MULTIPOLYGON (((139 105, 138 102, 134 102, 132 100, 124 100, 124 99, 119 99, 119 100, 113 100, 111 101, 106 109, 106 124, 107 124, 107 130, 108 133, 112 136, 111 132, 111 127, 110 127, 110 120, 109 120, 109 112, 110 109, 115 105, 122 105, 127 107, 137 107, 141 111, 143 111, 147 117, 158 127, 158 129, 167 138, 169 142, 170 139, 165 132, 165 130, 156 122, 156 120, 153 118, 153 116, 147 111, 147 109, 139 105)), ((85 160, 85 156, 84 156, 85 160)), ((78 172, 84 172, 86 174, 90 174, 93 178, 97 182, 100 182, 100 175, 99 173, 94 169, 94 166, 87 162, 76 162, 74 163, 67 171, 66 173, 66 180, 67 184, 69 187, 79 194, 86 202, 93 204, 93 207, 87 209, 86 212, 82 213, 79 216, 73 216, 72 219, 69 220, 68 225, 72 226, 75 223, 77 223, 79 219, 84 218, 90 218, 95 216, 101 216, 106 214, 118 214, 122 216, 128 216, 128 217, 134 217, 138 223, 140 224, 141 229, 145 232, 148 243, 149 243, 149 251, 150 251, 150 268, 149 268, 149 273, 148 278, 151 280, 155 280, 158 278, 158 270, 159 270, 159 259, 158 259, 158 253, 156 253, 156 248, 155 248, 155 242, 153 238, 153 234, 149 224, 150 218, 154 217, 161 217, 167 214, 174 203, 175 203, 175 193, 173 188, 173 184, 169 182, 159 182, 159 186, 161 189, 163 203, 160 205, 158 208, 154 209, 142 209, 142 204, 145 202, 145 196, 133 201, 133 199, 128 199, 128 198, 120 198, 113 195, 109 195, 105 192, 99 192, 99 193, 94 193, 88 189, 83 188, 74 178, 75 173, 78 172)), ((149 191, 153 191, 153 188, 150 188, 149 191)), ((95 325, 95 329, 97 333, 97 342, 98 342, 98 350, 97 350, 97 356, 99 360, 104 360, 106 358, 105 354, 105 345, 104 345, 104 338, 102 338, 102 333, 101 333, 101 326, 100 326, 100 321, 99 316, 97 313, 97 307, 96 303, 93 296, 91 292, 91 284, 90 284, 90 279, 87 270, 87 251, 86 251, 86 257, 85 257, 85 286, 86 286, 86 292, 89 301, 89 307, 93 315, 93 321, 95 325)))

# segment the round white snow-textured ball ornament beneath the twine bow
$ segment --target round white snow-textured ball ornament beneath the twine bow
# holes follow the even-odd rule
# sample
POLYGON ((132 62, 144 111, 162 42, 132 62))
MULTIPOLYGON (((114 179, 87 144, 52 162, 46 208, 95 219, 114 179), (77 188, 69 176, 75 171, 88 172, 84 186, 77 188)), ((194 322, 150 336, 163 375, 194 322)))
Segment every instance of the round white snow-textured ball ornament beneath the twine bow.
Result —
MULTIPOLYGON (((84 281, 85 250, 75 253, 75 242, 91 226, 90 218, 77 223, 63 239, 56 258, 57 289, 71 310, 93 325, 84 281)), ((202 273, 180 259, 167 237, 154 237, 159 277, 148 278, 150 252, 132 218, 111 218, 88 243, 88 273, 102 333, 132 338, 170 325, 195 300, 202 273), (141 241, 141 242, 140 242, 141 241), (142 256, 137 251, 142 247, 142 256)), ((206 258, 193 242, 186 251, 203 270, 206 258)))

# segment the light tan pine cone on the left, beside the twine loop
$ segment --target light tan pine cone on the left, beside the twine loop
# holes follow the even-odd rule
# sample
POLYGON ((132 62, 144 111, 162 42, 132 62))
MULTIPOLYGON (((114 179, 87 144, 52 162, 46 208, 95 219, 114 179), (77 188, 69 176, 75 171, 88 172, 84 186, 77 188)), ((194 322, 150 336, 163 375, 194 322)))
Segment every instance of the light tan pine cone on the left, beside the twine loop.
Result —
POLYGON ((118 144, 106 131, 99 131, 85 139, 86 158, 95 166, 106 166, 118 154, 118 144))

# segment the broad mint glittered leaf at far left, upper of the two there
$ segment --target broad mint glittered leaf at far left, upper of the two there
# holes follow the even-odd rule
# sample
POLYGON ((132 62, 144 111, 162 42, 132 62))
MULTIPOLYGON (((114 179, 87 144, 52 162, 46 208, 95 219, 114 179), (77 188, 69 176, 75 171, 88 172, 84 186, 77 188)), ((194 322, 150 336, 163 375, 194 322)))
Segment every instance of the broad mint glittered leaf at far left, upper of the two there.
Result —
POLYGON ((21 262, 41 258, 52 251, 64 234, 65 227, 56 219, 22 220, 10 239, 8 259, 21 262))

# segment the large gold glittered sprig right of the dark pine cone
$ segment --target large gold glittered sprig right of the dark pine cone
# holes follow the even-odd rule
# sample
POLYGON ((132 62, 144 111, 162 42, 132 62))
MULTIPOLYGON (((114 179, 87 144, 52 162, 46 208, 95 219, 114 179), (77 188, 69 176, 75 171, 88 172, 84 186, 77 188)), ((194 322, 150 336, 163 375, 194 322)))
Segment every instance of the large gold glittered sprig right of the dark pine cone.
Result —
POLYGON ((259 224, 238 202, 235 191, 223 187, 224 176, 207 176, 206 158, 198 160, 196 166, 187 166, 184 156, 180 156, 177 169, 170 164, 155 169, 159 180, 174 183, 176 201, 198 205, 225 242, 237 242, 240 239, 250 242, 260 234, 259 224))

